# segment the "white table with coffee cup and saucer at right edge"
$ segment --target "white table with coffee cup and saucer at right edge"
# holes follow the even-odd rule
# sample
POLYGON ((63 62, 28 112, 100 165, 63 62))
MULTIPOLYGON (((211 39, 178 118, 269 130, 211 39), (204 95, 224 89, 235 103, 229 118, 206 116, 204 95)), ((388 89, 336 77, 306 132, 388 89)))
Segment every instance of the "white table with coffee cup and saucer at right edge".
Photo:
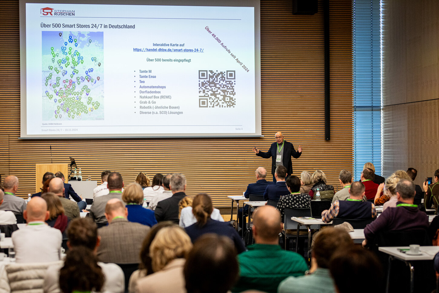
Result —
POLYGON ((410 292, 414 292, 414 266, 410 263, 413 260, 433 260, 436 253, 439 252, 439 246, 421 246, 420 255, 410 255, 402 253, 399 249, 408 249, 409 246, 395 246, 395 247, 378 247, 378 250, 389 254, 389 268, 387 271, 387 288, 386 292, 389 292, 389 279, 390 279, 390 267, 392 259, 396 258, 405 262, 410 268, 410 292))

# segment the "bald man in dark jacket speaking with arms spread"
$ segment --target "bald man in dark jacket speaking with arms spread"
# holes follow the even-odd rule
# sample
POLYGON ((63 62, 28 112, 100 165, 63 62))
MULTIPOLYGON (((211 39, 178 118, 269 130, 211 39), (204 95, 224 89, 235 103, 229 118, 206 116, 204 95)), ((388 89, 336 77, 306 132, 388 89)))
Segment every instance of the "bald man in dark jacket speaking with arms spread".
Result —
POLYGON ((274 177, 274 170, 276 166, 282 165, 287 168, 287 177, 293 174, 293 164, 291 163, 291 156, 295 159, 302 155, 302 146, 299 145, 297 151, 291 142, 285 141, 284 134, 282 132, 276 132, 274 134, 276 142, 273 142, 267 152, 261 152, 258 148, 252 148, 252 151, 256 153, 256 156, 268 159, 271 157, 271 174, 273 174, 273 182, 276 182, 274 177))

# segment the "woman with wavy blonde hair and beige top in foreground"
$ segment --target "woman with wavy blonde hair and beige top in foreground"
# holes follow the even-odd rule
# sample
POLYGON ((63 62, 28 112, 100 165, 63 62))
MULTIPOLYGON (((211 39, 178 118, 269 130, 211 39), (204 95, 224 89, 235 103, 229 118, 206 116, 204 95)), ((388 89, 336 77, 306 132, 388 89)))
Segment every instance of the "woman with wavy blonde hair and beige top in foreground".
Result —
POLYGON ((136 293, 186 293, 183 268, 191 239, 178 226, 162 228, 151 242, 153 274, 137 281, 136 293))

